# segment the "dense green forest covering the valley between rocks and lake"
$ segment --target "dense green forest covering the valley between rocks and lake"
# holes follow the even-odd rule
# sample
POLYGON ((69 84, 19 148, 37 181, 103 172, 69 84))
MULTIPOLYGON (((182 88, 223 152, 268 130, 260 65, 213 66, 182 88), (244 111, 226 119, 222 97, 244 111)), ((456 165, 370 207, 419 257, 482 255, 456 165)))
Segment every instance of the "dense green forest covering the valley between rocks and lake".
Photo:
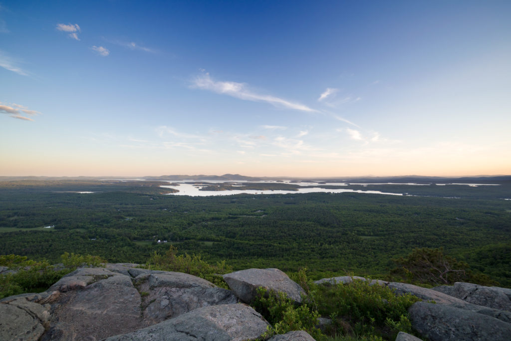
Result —
POLYGON ((385 276, 396 266, 393 259, 414 248, 443 247, 472 270, 511 286, 511 200, 502 197, 508 183, 374 188, 425 196, 215 197, 163 195, 158 184, 2 181, 0 254, 58 262, 73 252, 143 263, 174 245, 180 253, 226 260, 234 269, 307 267, 310 277, 319 278, 347 272, 385 276), (82 191, 95 193, 77 193, 82 191))

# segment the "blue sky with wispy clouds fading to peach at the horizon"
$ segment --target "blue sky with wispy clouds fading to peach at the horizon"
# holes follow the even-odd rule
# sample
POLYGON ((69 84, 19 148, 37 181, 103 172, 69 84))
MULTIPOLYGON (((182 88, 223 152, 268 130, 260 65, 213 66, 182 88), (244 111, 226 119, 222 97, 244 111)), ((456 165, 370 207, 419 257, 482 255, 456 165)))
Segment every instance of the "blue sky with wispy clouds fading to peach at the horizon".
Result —
POLYGON ((511 174, 510 17, 0 0, 0 176, 511 174))

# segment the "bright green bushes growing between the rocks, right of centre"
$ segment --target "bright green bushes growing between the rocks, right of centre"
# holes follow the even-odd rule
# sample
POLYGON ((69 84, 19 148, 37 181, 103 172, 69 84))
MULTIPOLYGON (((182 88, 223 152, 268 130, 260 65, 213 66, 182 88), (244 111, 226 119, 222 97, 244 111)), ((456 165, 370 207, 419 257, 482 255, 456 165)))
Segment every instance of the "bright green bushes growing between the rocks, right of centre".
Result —
POLYGON ((407 310, 420 301, 413 295, 396 295, 388 287, 360 280, 316 285, 307 280, 305 270, 296 280, 308 294, 300 306, 282 293, 258 290, 252 306, 272 324, 266 336, 305 330, 320 340, 379 340, 394 339, 399 331, 412 333, 407 310), (316 326, 319 316, 333 321, 323 331, 316 326))

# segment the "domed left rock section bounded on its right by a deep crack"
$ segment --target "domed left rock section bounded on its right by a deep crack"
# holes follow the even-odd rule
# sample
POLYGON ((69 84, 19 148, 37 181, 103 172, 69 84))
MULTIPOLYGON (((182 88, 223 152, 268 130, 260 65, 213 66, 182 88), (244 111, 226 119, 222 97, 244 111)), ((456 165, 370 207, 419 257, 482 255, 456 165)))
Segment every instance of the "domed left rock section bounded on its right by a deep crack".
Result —
POLYGON ((131 278, 104 268, 80 268, 50 287, 61 293, 43 340, 101 339, 145 327, 141 295, 131 278))

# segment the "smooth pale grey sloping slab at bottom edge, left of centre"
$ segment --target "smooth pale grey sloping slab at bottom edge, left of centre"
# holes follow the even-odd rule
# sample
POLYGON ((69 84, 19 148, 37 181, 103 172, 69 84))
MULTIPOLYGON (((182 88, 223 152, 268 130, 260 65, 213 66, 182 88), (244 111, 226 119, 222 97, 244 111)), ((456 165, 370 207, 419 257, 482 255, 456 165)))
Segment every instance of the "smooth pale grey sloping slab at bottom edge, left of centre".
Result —
POLYGON ((241 341, 257 338, 266 332, 267 326, 269 324, 263 316, 251 307, 225 304, 198 308, 174 319, 106 340, 241 341))

